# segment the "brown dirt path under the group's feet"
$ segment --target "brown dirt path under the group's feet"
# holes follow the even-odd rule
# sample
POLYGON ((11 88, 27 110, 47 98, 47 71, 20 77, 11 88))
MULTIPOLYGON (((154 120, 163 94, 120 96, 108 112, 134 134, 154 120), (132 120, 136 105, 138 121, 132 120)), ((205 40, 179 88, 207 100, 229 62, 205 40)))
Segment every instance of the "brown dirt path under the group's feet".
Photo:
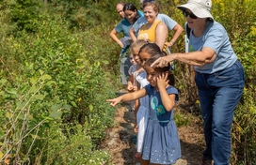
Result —
MULTIPOLYGON (((177 106, 176 111, 183 111, 177 106)), ((188 113, 188 115, 190 115, 188 113)), ((102 143, 102 149, 111 155, 112 165, 136 165, 136 145, 130 141, 134 135, 134 113, 129 105, 123 104, 116 113, 115 126, 109 128, 107 138, 102 143)), ((175 165, 200 165, 203 151, 203 134, 200 119, 191 117, 191 122, 186 127, 180 127, 179 136, 182 145, 182 158, 175 165)))

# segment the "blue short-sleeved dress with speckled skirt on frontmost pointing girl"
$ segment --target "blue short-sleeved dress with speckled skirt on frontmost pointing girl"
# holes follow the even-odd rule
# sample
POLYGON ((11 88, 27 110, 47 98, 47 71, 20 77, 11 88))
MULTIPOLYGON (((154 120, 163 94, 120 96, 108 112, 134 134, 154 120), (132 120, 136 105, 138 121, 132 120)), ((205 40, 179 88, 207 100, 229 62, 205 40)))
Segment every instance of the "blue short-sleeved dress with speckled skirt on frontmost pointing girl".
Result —
MULTIPOLYGON (((142 158, 156 164, 174 164, 181 158, 181 144, 178 130, 173 119, 173 110, 167 112, 162 105, 160 93, 149 84, 145 87, 150 98, 150 112, 147 130, 144 136, 142 158)), ((178 90, 167 87, 168 94, 175 94, 178 101, 178 90)))

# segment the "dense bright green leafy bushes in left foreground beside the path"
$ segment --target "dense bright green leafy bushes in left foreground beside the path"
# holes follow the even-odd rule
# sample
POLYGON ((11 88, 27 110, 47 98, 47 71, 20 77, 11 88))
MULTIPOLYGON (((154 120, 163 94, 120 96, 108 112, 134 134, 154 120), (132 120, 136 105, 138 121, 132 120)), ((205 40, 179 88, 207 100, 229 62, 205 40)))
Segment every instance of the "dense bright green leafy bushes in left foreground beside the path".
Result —
POLYGON ((114 112, 104 100, 114 95, 109 80, 115 75, 104 72, 109 54, 88 49, 103 39, 97 31, 103 27, 68 27, 65 19, 44 13, 33 34, 23 29, 2 37, 1 161, 11 154, 17 164, 109 162, 99 144, 112 125, 114 112))

